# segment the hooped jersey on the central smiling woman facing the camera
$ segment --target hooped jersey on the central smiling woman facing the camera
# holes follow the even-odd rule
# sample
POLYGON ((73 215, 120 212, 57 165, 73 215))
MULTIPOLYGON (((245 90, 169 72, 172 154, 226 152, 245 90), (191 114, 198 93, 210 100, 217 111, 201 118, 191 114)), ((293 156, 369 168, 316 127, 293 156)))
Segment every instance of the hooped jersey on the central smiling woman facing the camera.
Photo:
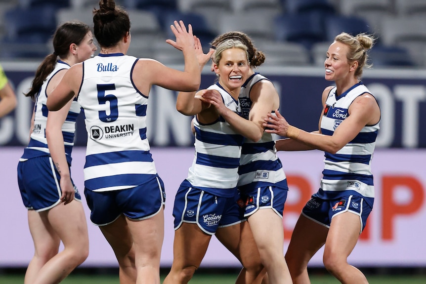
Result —
MULTIPOLYGON (((218 83, 209 87, 220 92, 227 108, 241 115, 240 104, 218 83)), ((244 137, 222 117, 195 126, 195 157, 182 186, 192 186, 221 197, 232 197, 237 189, 238 166, 244 137), (189 182, 189 184, 187 184, 189 182)))

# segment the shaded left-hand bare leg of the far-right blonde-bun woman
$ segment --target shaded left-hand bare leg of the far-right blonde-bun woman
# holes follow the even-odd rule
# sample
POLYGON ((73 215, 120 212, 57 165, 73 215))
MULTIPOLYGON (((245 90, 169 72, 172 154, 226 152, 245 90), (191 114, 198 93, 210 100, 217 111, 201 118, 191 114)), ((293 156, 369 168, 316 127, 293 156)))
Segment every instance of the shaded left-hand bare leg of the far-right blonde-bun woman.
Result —
POLYGON ((303 215, 299 216, 286 253, 293 284, 310 284, 307 271, 308 262, 324 245, 327 233, 327 227, 303 215))

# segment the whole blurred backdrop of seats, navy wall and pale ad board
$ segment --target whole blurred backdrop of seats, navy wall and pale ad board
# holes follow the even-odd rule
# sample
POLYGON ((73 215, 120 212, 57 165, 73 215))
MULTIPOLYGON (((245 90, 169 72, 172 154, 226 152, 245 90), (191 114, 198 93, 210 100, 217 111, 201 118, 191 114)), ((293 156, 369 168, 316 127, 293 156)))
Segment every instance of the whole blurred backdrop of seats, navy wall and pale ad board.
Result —
MULTIPOLYGON (((291 124, 306 131, 318 129, 321 92, 330 84, 324 80, 325 54, 334 37, 341 32, 374 34, 377 42, 369 53, 373 68, 364 71, 363 82, 382 110, 372 165, 376 201, 350 261, 371 273, 426 277, 426 0, 116 3, 130 16, 128 55, 154 58, 178 69, 183 69, 182 53, 165 42, 173 39, 173 20, 192 24, 206 51, 216 35, 236 30, 247 33, 266 55, 258 71, 274 82, 281 96, 280 112, 291 124)), ((0 119, 0 276, 25 269, 34 253, 16 182, 16 165, 28 142, 33 108, 33 102, 22 93, 28 90, 44 56, 52 53, 51 36, 56 27, 71 20, 93 26, 94 7, 98 7, 97 0, 0 0, 0 64, 18 98, 15 111, 0 119)), ((214 78, 210 66, 206 66, 201 87, 209 86, 214 78)), ((154 86, 148 107, 147 135, 167 192, 162 253, 165 270, 172 261, 174 194, 192 162, 194 142, 191 118, 175 110, 175 97, 175 92, 154 86)), ((80 191, 84 189, 86 139, 80 116, 72 166, 80 191)), ((279 153, 279 157, 290 187, 283 218, 288 244, 301 207, 318 189, 323 153, 279 153)), ((88 220, 87 206, 85 209, 88 220)), ((89 221, 88 228, 90 253, 81 268, 115 271, 111 248, 89 221)), ((321 256, 321 252, 315 255, 310 269, 321 269, 321 256)), ((213 238, 202 268, 230 269, 234 273, 240 264, 213 238)), ((422 281, 419 283, 426 283, 422 281)))

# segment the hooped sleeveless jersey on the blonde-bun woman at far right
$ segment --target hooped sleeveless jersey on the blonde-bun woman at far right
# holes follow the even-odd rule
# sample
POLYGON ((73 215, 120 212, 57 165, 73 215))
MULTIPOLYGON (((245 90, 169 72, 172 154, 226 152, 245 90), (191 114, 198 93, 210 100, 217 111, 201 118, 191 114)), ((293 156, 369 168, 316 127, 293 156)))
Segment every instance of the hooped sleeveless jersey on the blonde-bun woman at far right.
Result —
MULTIPOLYGON (((353 100, 364 93, 371 94, 362 82, 353 85, 339 97, 336 97, 336 87, 334 87, 325 102, 321 133, 333 135, 341 122, 349 116, 348 109, 353 100)), ((379 122, 375 125, 366 125, 336 154, 325 152, 321 189, 317 194, 320 198, 339 198, 350 191, 353 195, 365 198, 366 202, 373 207, 374 185, 371 160, 378 130, 379 122)))

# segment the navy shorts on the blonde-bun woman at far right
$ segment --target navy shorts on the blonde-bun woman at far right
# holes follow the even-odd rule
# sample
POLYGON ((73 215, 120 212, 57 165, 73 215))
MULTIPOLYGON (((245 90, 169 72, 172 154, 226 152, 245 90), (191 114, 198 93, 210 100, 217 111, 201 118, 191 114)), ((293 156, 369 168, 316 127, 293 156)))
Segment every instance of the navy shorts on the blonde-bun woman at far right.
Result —
POLYGON ((359 196, 348 195, 339 199, 325 200, 312 195, 312 198, 303 207, 302 214, 306 218, 330 228, 331 219, 334 216, 344 212, 351 212, 359 216, 362 232, 371 210, 370 205, 359 196))

